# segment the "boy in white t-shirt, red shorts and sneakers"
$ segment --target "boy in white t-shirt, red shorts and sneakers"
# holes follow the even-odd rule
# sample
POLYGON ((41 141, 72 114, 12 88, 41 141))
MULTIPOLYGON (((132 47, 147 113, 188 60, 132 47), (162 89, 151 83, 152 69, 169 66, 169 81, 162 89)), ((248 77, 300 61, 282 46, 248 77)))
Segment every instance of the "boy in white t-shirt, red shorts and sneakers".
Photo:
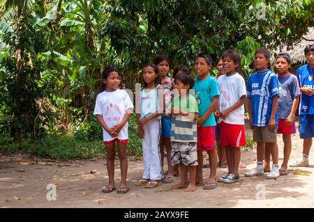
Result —
POLYGON ((223 70, 225 74, 218 77, 220 92, 218 109, 221 121, 220 145, 226 148, 228 173, 218 178, 219 182, 233 183, 239 181, 240 147, 246 144, 244 133, 244 102, 246 101, 246 84, 238 73, 240 56, 236 51, 223 53, 223 70))

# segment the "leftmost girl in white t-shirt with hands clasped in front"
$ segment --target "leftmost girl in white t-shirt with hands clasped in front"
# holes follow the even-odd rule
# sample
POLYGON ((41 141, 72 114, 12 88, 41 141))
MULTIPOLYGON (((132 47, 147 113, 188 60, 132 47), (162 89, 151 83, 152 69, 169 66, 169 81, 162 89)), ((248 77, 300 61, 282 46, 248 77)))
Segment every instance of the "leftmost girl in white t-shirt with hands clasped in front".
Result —
POLYGON ((121 168, 121 182, 117 193, 127 193, 129 188, 126 184, 128 171, 128 157, 126 145, 128 143, 128 119, 133 112, 133 104, 128 93, 120 90, 120 74, 114 68, 107 68, 103 72, 100 93, 96 99, 94 115, 101 127, 103 127, 103 143, 107 151, 107 172, 109 183, 103 189, 104 193, 110 193, 114 187, 114 149, 117 142, 118 157, 121 168))

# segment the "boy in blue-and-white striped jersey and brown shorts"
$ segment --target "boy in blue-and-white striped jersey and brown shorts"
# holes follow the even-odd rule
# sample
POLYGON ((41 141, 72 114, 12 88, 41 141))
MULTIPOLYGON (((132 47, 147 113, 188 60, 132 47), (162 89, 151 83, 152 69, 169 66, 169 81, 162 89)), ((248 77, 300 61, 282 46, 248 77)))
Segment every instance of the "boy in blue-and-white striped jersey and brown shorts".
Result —
POLYGON ((259 49, 255 52, 256 72, 248 77, 247 97, 248 115, 253 140, 257 142, 257 167, 245 173, 246 177, 264 175, 263 159, 265 147, 271 151, 273 166, 267 179, 275 179, 279 176, 278 147, 276 146, 276 128, 278 125, 278 78, 270 68, 269 51, 259 49))

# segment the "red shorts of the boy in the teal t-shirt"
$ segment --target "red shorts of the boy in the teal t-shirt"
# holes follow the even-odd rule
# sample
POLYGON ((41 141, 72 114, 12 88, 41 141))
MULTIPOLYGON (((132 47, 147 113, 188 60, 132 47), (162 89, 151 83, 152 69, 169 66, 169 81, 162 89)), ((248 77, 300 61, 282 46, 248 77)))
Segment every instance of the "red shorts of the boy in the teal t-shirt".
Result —
POLYGON ((215 127, 197 127, 197 150, 215 150, 215 127))

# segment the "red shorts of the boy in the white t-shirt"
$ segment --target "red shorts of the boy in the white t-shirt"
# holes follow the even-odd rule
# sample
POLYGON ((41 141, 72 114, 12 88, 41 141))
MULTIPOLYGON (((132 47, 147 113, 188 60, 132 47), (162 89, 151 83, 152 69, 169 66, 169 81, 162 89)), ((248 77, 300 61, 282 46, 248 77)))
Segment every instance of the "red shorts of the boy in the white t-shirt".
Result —
POLYGON ((219 123, 220 129, 220 145, 239 148, 246 145, 246 134, 244 125, 228 124, 225 122, 219 123))

